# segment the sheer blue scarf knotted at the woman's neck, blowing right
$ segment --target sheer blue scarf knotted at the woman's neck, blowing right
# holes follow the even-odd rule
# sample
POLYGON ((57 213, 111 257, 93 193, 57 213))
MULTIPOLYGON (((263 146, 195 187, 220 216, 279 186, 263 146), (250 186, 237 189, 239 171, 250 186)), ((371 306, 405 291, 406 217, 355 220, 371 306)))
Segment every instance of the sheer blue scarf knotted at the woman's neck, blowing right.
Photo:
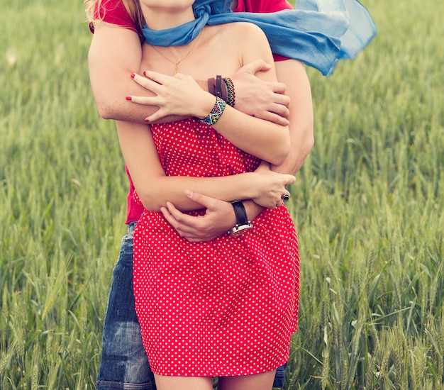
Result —
POLYGON ((155 46, 187 45, 207 24, 250 22, 264 31, 274 54, 329 75, 338 60, 355 58, 376 35, 370 13, 357 0, 297 0, 296 9, 274 13, 234 13, 231 1, 196 0, 194 21, 167 30, 151 30, 145 24, 145 41, 155 46))

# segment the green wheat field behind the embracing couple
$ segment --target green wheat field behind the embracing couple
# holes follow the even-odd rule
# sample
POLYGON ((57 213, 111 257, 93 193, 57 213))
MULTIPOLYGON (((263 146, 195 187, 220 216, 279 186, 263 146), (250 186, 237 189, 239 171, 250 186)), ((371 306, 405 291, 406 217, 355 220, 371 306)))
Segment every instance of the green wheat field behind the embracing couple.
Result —
MULTIPOLYGON (((444 1, 365 5, 365 52, 309 69, 285 389, 444 389, 444 1)), ((0 6, 0 388, 94 389, 125 233, 116 131, 89 87, 82 0, 0 6)))

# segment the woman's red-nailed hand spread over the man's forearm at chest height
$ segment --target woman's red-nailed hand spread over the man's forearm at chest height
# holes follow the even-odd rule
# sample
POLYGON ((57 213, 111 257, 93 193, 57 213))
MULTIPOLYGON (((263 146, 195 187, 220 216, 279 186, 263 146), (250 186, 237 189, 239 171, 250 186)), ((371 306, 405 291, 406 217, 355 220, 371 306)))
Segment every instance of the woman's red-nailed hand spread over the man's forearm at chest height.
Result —
POLYGON ((214 96, 201 89, 191 76, 178 73, 171 77, 148 70, 143 74, 145 77, 140 74, 132 74, 131 77, 156 96, 127 96, 127 99, 134 103, 159 107, 145 119, 147 123, 170 115, 205 118, 214 106, 214 96))

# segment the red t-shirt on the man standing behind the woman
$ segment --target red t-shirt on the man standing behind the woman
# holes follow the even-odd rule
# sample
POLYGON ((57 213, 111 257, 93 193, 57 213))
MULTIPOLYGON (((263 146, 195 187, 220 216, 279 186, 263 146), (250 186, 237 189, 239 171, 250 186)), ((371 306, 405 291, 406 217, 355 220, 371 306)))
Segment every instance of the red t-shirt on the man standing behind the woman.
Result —
MULTIPOLYGON (((293 7, 286 0, 239 0, 238 6, 234 12, 262 12, 270 13, 276 11, 282 11, 283 9, 292 9, 293 7)), ((128 28, 130 30, 138 32, 137 26, 131 20, 131 17, 126 11, 125 6, 121 0, 104 0, 101 4, 101 9, 96 10, 94 13, 95 18, 101 18, 104 22, 114 24, 116 26, 121 26, 123 28, 128 28)), ((94 26, 89 25, 91 32, 94 32, 94 26)), ((287 60, 287 57, 282 57, 282 55, 273 55, 274 61, 287 60)), ((143 212, 143 206, 137 204, 133 199, 134 184, 131 180, 131 176, 126 169, 128 174, 128 179, 130 181, 130 189, 127 197, 128 208, 126 223, 136 222, 139 220, 140 215, 143 212)))

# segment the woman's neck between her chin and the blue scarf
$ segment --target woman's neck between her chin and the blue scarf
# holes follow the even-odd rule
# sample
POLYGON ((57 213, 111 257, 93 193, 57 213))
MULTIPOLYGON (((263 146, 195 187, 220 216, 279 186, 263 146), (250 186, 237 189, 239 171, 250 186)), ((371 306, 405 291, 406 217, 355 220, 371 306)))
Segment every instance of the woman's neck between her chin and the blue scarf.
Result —
MULTIPOLYGON (((166 1, 167 4, 170 1, 166 1)), ((145 23, 151 30, 167 30, 194 21, 192 6, 144 6, 141 2, 145 23)))

